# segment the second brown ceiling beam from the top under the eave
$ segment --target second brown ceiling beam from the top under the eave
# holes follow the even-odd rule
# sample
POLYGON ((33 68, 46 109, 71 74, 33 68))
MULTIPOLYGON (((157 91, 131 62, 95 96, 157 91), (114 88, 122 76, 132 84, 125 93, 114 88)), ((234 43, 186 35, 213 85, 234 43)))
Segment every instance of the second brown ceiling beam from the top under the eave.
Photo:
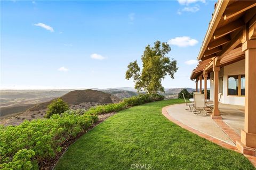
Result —
POLYGON ((243 25, 244 25, 243 20, 236 20, 236 21, 230 22, 229 24, 224 25, 223 27, 217 29, 213 34, 213 38, 217 39, 222 36, 225 36, 230 32, 233 32, 239 28, 242 28, 243 25))

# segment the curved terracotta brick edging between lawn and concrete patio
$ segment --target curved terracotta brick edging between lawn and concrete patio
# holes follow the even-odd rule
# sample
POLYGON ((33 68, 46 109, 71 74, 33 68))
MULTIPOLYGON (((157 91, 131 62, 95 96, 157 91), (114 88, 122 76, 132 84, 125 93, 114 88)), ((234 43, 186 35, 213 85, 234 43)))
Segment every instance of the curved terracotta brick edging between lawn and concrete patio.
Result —
MULTIPOLYGON (((205 133, 203 133, 203 132, 200 132, 200 131, 198 131, 198 130, 196 130, 196 129, 193 129, 193 128, 191 128, 191 127, 189 127, 189 126, 187 126, 187 125, 181 123, 181 122, 178 121, 178 120, 175 120, 175 118, 173 118, 171 115, 169 115, 169 114, 167 113, 167 108, 169 108, 169 107, 171 107, 171 105, 165 106, 165 107, 162 108, 162 114, 163 114, 169 121, 171 121, 171 122, 173 122, 173 123, 179 125, 179 126, 180 126, 181 128, 183 128, 183 129, 186 129, 186 130, 188 130, 189 132, 195 133, 195 134, 197 134, 199 137, 202 137, 202 138, 204 138, 204 139, 207 139, 207 140, 209 140, 209 141, 211 141, 211 142, 213 142, 213 143, 215 143, 215 144, 217 144, 217 145, 219 145, 219 146, 221 146, 221 147, 223 147, 223 148, 226 148, 226 149, 229 149, 229 150, 234 150, 234 151, 236 151, 236 152, 242 154, 242 153, 237 149, 237 147, 232 146, 232 145, 230 145, 230 144, 228 144, 228 143, 226 143, 226 142, 223 142, 223 141, 221 141, 221 140, 219 140, 219 139, 217 139, 217 138, 213 138, 213 137, 211 137, 211 136, 208 135, 208 134, 205 134, 205 133)), ((220 121, 216 121, 216 122, 220 123, 220 121)), ((224 122, 223 122, 223 123, 224 123, 224 122)), ((237 138, 234 138, 234 137, 233 137, 233 139, 231 139, 231 140, 237 140, 237 138)), ((256 157, 249 156, 249 155, 244 155, 244 156, 245 156, 247 159, 249 159, 250 162, 256 167, 256 157)))

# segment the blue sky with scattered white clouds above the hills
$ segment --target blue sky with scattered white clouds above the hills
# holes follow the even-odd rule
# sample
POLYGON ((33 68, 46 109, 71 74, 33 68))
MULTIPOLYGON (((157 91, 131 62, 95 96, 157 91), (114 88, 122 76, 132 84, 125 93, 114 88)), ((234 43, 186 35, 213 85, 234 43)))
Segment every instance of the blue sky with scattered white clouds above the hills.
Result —
POLYGON ((1 1, 1 89, 134 87, 127 65, 156 40, 179 67, 164 88, 195 88, 215 2, 1 1))

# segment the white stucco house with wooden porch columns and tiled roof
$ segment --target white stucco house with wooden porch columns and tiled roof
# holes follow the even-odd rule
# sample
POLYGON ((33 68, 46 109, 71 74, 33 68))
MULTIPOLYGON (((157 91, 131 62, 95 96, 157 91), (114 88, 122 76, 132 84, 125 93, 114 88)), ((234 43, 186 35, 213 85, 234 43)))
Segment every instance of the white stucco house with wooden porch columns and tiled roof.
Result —
POLYGON ((221 118, 219 92, 221 103, 243 105, 244 130, 236 145, 256 156, 256 1, 218 1, 197 60, 190 79, 197 91, 198 82, 202 91, 202 81, 206 89, 210 79, 211 117, 221 118))

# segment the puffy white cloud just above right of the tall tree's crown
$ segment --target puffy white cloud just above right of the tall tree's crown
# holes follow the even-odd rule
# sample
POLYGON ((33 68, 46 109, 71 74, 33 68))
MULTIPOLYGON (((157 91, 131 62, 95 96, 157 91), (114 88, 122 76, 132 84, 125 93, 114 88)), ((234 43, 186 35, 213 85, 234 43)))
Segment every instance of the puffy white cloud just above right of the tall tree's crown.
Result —
POLYGON ((197 43, 198 41, 196 39, 191 39, 190 37, 187 37, 187 36, 176 37, 168 41, 168 44, 176 45, 178 47, 194 46, 197 43))

